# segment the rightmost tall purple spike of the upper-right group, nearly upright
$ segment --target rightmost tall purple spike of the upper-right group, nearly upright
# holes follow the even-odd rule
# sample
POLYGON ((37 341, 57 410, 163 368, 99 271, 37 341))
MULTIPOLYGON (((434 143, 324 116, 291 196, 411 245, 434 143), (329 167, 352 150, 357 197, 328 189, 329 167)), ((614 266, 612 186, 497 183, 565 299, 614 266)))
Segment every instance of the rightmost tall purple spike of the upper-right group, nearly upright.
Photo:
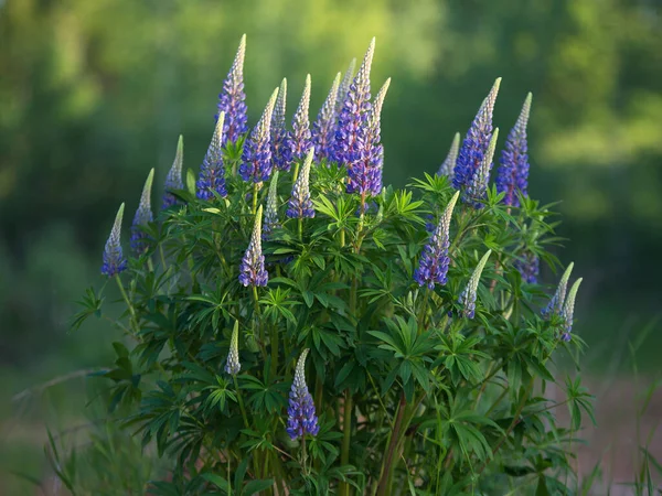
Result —
POLYGON ((505 193, 503 203, 520 206, 517 192, 526 196, 528 186, 528 154, 526 144, 526 125, 531 112, 531 93, 524 100, 524 106, 515 127, 508 134, 505 149, 501 152, 501 166, 496 173, 496 191, 505 193))

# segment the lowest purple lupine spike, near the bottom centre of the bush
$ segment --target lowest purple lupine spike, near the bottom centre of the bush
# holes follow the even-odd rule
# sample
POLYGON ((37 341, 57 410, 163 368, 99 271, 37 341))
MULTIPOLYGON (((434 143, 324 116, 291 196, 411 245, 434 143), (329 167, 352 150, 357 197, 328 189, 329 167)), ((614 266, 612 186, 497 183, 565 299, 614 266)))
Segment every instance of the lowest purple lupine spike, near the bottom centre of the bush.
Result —
POLYGON ((297 362, 295 380, 290 390, 289 407, 287 409, 286 431, 292 441, 303 438, 306 434, 317 435, 320 430, 312 396, 306 385, 307 356, 308 348, 303 349, 299 362, 297 362))

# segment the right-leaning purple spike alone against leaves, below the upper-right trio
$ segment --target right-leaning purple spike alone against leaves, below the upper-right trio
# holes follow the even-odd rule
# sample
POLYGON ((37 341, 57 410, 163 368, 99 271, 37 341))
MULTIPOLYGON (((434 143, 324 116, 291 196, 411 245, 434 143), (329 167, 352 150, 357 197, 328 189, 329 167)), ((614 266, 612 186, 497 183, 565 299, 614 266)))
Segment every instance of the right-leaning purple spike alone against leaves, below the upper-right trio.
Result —
POLYGON ((448 257, 448 248, 450 246, 450 219, 459 196, 459 191, 452 195, 452 198, 448 202, 448 206, 439 219, 437 228, 423 249, 418 269, 414 272, 414 280, 418 282, 418 285, 427 285, 429 289, 435 289, 435 284, 446 284, 448 266, 450 265, 450 258, 448 257))

